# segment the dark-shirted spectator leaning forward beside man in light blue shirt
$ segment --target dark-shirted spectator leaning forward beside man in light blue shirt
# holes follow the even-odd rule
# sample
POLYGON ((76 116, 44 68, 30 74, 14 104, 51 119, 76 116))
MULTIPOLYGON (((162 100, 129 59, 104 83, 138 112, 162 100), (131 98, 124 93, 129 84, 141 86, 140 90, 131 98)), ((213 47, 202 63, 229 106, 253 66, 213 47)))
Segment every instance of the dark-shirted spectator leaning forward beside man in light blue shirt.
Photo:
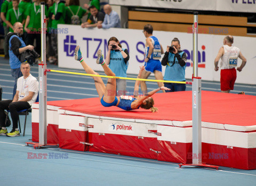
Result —
POLYGON ((81 24, 82 28, 97 27, 104 20, 104 14, 99 12, 95 6, 90 6, 89 11, 91 12, 91 16, 87 22, 81 24))

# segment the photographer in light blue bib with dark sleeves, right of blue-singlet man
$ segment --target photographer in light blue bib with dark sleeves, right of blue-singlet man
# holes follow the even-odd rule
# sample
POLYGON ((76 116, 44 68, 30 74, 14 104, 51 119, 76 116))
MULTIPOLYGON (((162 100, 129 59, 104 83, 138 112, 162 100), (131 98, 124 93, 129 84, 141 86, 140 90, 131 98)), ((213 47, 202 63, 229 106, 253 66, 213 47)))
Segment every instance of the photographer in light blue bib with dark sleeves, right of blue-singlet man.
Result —
MULTIPOLYGON (((180 50, 180 41, 175 37, 172 40, 171 46, 167 46, 161 62, 163 66, 166 66, 164 80, 185 82, 186 61, 187 55, 185 52, 180 50)), ((166 92, 178 92, 186 90, 186 84, 164 83, 164 86, 171 89, 171 91, 166 92)))

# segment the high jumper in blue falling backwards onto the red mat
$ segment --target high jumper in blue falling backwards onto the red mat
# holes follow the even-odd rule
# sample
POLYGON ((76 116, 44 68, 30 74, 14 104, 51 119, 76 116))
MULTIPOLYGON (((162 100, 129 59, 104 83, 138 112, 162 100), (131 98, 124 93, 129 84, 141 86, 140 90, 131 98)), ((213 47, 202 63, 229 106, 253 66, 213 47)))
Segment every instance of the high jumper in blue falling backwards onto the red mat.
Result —
MULTIPOLYGON (((110 68, 107 66, 107 64, 103 61, 103 55, 101 54, 101 50, 97 52, 98 58, 97 63, 101 64, 103 70, 105 71, 105 74, 107 76, 115 76, 115 74, 110 70, 110 68)), ((91 67, 86 64, 82 58, 82 53, 80 51, 80 47, 76 46, 75 49, 75 59, 79 62, 81 62, 84 70, 87 74, 95 74, 99 75, 97 72, 95 72, 91 67)), ((145 69, 145 67, 140 67, 140 72, 138 75, 138 78, 141 76, 141 72, 145 69)), ((145 95, 138 96, 139 93, 139 86, 140 81, 136 80, 135 86, 134 86, 134 98, 131 98, 130 96, 116 96, 116 79, 115 78, 108 78, 108 83, 105 86, 103 83, 101 77, 92 77, 95 82, 96 90, 99 94, 100 102, 102 106, 104 107, 111 107, 116 106, 124 110, 134 110, 138 109, 139 107, 143 109, 151 109, 152 112, 157 111, 157 108, 153 107, 154 100, 151 98, 153 94, 158 92, 159 90, 170 90, 169 88, 166 88, 164 86, 157 88, 154 91, 151 91, 145 95)))

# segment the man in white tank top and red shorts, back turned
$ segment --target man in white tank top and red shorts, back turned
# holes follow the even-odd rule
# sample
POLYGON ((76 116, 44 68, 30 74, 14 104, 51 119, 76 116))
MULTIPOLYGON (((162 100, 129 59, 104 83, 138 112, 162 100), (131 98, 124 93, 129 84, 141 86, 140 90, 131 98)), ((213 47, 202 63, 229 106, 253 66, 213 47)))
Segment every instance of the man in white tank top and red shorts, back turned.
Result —
POLYGON ((245 66, 246 59, 239 50, 239 48, 232 46, 234 42, 233 36, 226 36, 223 40, 223 46, 220 48, 217 57, 214 60, 215 71, 219 70, 218 63, 220 62, 220 90, 221 92, 229 93, 230 90, 234 90, 234 84, 236 81, 236 69, 241 72, 245 66), (237 67, 237 59, 242 59, 242 64, 237 67), (235 69, 235 67, 237 67, 235 69))

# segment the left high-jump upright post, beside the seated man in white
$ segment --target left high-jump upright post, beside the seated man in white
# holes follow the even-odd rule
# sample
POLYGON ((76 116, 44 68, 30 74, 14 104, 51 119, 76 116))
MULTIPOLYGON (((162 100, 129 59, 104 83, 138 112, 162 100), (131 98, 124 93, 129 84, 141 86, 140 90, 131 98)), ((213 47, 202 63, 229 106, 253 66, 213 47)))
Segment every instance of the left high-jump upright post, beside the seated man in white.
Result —
POLYGON ((45 5, 41 2, 41 63, 39 73, 39 144, 47 144, 47 82, 46 82, 46 18, 45 5))

